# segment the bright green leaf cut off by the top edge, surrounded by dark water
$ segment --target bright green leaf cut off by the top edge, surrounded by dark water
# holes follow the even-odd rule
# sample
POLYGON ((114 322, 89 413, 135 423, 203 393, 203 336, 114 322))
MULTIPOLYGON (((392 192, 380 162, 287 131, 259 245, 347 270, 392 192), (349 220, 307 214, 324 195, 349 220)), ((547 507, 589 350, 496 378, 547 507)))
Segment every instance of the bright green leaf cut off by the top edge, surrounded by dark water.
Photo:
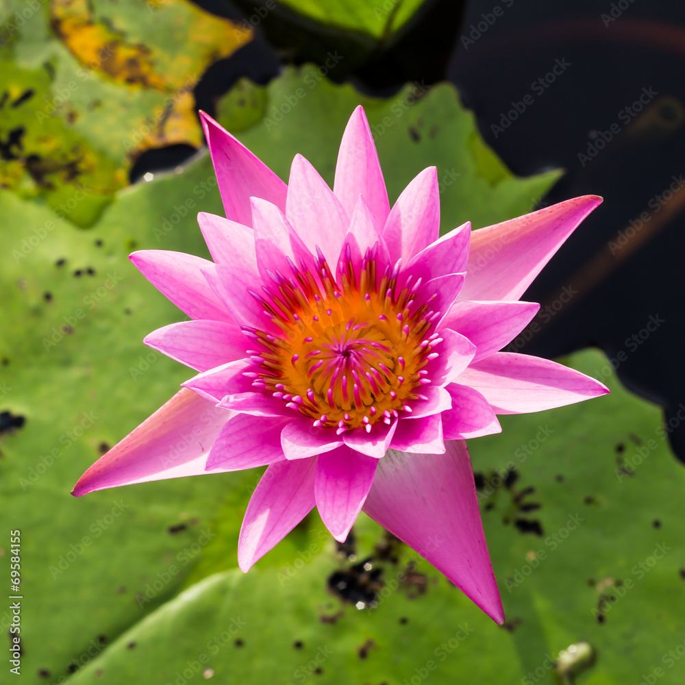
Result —
MULTIPOLYGON (((273 0, 272 0, 273 1, 273 0)), ((376 40, 391 36, 405 25, 425 0, 278 0, 298 14, 326 26, 367 34, 376 40)), ((269 3, 266 3, 269 6, 269 3)))

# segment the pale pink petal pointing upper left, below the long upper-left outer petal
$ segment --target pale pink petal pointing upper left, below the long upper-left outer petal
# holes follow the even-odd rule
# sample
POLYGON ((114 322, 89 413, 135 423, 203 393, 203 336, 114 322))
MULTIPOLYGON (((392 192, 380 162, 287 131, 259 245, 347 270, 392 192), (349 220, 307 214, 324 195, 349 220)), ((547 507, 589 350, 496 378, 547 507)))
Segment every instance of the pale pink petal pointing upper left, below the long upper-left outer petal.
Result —
POLYGON ((208 212, 200 212, 197 223, 216 264, 228 264, 251 274, 258 273, 255 236, 251 228, 208 212))

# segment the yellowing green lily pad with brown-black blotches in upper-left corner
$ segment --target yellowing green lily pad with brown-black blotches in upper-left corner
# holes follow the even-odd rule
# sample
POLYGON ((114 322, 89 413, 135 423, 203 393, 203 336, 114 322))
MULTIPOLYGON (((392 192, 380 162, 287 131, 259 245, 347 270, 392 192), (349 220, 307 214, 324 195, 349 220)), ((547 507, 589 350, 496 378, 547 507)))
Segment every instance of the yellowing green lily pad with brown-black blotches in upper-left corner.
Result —
POLYGON ((251 37, 187 0, 3 0, 0 20, 0 184, 79 226, 140 153, 201 145, 192 91, 251 37))

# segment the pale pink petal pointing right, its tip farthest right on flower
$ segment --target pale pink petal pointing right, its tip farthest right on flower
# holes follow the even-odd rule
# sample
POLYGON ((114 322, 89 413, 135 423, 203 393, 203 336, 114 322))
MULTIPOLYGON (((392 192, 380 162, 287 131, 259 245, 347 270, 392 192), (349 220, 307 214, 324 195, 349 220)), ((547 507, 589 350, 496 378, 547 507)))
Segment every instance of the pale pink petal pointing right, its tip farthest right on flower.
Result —
POLYGON ((609 392, 580 371, 511 352, 495 352, 469 366, 459 382, 478 390, 497 414, 541 412, 609 392))

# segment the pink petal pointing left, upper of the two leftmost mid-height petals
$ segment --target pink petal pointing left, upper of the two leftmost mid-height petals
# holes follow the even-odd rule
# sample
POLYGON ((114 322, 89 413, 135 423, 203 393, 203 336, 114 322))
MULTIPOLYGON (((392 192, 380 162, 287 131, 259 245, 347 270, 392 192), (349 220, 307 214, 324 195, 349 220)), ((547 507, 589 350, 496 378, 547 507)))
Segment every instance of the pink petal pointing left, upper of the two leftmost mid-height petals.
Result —
POLYGON ((191 319, 233 323, 223 302, 208 286, 202 269, 213 269, 206 259, 184 252, 140 250, 129 259, 162 295, 191 319))

